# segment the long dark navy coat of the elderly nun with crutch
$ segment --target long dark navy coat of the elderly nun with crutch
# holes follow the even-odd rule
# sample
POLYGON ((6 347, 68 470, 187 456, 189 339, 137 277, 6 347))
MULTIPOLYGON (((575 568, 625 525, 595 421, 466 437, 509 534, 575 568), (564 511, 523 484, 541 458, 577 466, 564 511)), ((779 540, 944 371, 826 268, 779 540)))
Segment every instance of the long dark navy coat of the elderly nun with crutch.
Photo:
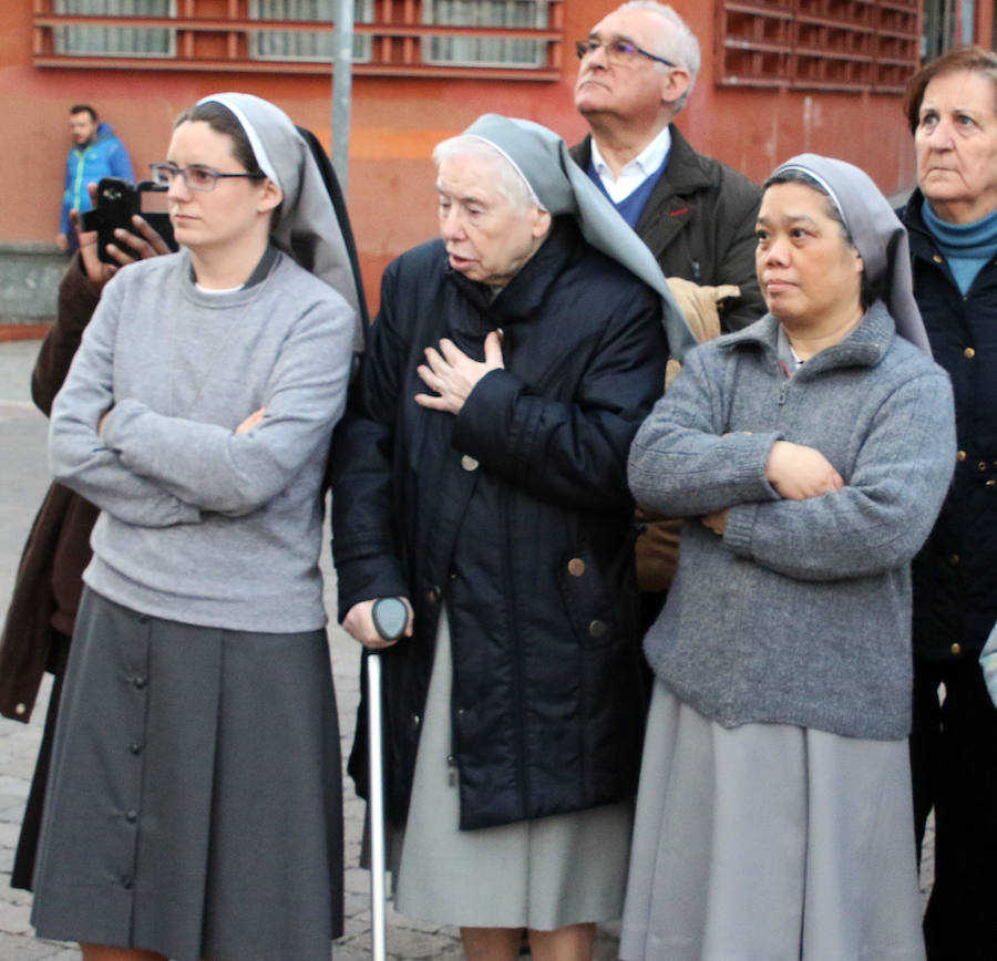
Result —
MULTIPOLYGON (((441 604, 453 644, 461 827, 630 797, 645 705, 627 451, 668 355, 660 300, 573 220, 494 299, 441 241, 386 271, 333 442, 339 611, 402 595, 413 638, 386 651, 389 816, 411 792, 441 604), (491 371, 459 415, 413 401, 449 337, 491 371)), ((361 712, 362 717, 362 712, 361 712)), ((363 790, 362 724, 351 765, 363 790)))

